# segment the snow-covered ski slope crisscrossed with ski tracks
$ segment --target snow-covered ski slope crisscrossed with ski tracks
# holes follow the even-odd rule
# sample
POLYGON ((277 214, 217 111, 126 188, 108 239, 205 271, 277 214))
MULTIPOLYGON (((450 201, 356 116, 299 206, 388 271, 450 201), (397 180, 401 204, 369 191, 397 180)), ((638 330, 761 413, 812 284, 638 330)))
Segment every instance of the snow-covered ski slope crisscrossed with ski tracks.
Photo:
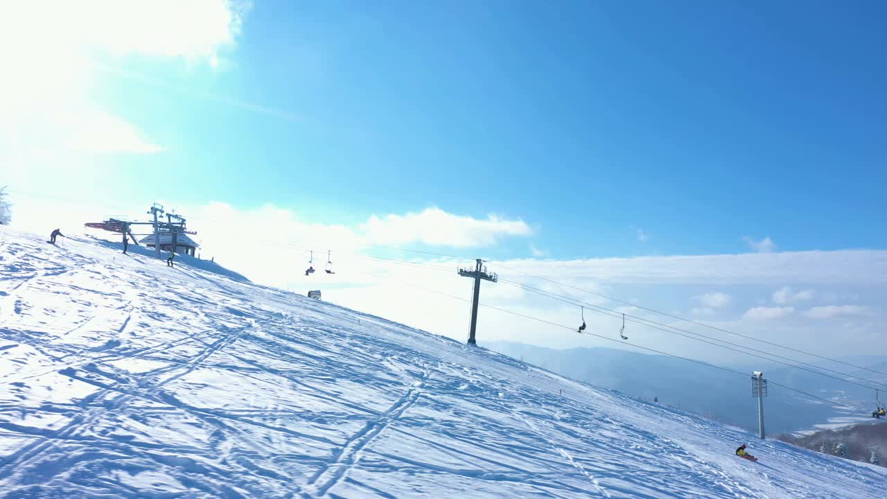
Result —
POLYGON ((0 238, 3 497, 887 490, 882 468, 307 297, 87 240, 0 238))

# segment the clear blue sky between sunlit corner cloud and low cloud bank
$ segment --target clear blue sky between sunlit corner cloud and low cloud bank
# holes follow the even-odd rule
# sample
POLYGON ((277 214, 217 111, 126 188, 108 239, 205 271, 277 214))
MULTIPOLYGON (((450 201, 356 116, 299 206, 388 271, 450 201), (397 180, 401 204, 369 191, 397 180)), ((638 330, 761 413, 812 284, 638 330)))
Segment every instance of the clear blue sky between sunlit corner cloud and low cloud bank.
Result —
POLYGON ((496 213, 556 257, 737 252, 743 236, 883 248, 885 13, 254 4, 219 67, 93 52, 90 99, 163 151, 91 158, 102 178, 77 192, 125 183, 129 197, 273 202, 324 223, 496 213))

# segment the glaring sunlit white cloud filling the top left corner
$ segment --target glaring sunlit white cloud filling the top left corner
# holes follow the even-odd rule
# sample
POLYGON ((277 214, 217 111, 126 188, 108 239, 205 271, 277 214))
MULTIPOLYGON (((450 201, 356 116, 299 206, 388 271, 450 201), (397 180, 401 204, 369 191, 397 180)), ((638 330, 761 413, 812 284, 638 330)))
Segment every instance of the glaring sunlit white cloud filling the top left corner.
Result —
POLYGON ((211 67, 234 44, 246 10, 228 0, 0 3, 0 135, 16 154, 0 162, 69 147, 156 152, 135 124, 90 100, 101 95, 94 91, 96 60, 137 54, 211 67))

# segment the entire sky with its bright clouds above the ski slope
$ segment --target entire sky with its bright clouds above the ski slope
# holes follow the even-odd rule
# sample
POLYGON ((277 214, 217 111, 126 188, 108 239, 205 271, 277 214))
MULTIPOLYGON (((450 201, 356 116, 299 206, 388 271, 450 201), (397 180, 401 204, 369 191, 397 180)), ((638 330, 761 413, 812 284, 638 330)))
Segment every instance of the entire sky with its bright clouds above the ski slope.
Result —
POLYGON ((670 312, 797 317, 787 339, 882 334, 883 3, 53 8, 0 15, 0 182, 35 230, 161 201, 281 286, 310 285, 301 264, 250 265, 303 255, 232 249, 218 220, 278 245, 529 258, 670 312))

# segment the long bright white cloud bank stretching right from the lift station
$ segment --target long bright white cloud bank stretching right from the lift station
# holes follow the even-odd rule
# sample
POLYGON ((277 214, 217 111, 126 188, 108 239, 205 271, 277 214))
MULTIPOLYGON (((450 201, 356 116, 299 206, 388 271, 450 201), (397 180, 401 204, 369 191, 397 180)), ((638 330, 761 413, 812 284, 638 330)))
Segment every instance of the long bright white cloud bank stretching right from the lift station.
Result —
MULTIPOLYGON (((483 245, 491 239, 495 241, 506 234, 514 232, 520 234, 521 231, 514 230, 514 226, 522 224, 495 217, 476 220, 431 209, 420 214, 373 216, 365 224, 358 226, 326 225, 306 220, 293 210, 271 204, 253 210, 238 210, 224 202, 211 202, 192 207, 172 202, 161 201, 161 203, 168 208, 176 207, 178 212, 188 219, 188 226, 198 231, 196 237, 201 244, 202 257, 216 257, 216 262, 230 265, 250 279, 280 287, 302 281, 311 249, 315 251, 315 268, 318 268, 318 262, 320 267, 326 263, 326 249, 332 249, 331 257, 334 265, 348 266, 352 269, 350 272, 337 273, 335 276, 324 274, 325 282, 353 282, 355 278, 367 279, 365 274, 360 273, 366 269, 385 269, 390 266, 389 263, 380 263, 365 255, 358 255, 358 251, 367 244, 399 245, 423 242, 470 247, 483 245), (429 214, 428 218, 422 214, 429 214), (423 224, 428 226, 423 227, 423 224), (232 240, 234 226, 238 227, 238 230, 236 239, 232 240), (435 230, 437 234, 434 234, 435 230), (454 238, 454 241, 446 239, 446 236, 454 238), (281 262, 286 264, 281 265, 281 262)), ((144 209, 133 210, 134 213, 143 211, 144 209)), ((378 251, 382 251, 381 256, 384 257, 412 259, 412 255, 405 255, 396 249, 380 249, 376 252, 378 251)), ((472 264, 473 260, 455 261, 439 258, 426 263, 428 265, 424 265, 425 268, 436 268, 426 271, 422 270, 422 265, 401 264, 400 267, 403 268, 399 270, 403 270, 404 273, 418 272, 423 275, 422 281, 428 279, 426 273, 455 276, 455 288, 451 291, 465 291, 467 281, 458 279, 456 267, 472 264), (451 269, 451 272, 445 269, 451 269)), ((498 287, 493 294, 487 296, 493 297, 497 293, 502 297, 514 297, 515 290, 498 287)))

